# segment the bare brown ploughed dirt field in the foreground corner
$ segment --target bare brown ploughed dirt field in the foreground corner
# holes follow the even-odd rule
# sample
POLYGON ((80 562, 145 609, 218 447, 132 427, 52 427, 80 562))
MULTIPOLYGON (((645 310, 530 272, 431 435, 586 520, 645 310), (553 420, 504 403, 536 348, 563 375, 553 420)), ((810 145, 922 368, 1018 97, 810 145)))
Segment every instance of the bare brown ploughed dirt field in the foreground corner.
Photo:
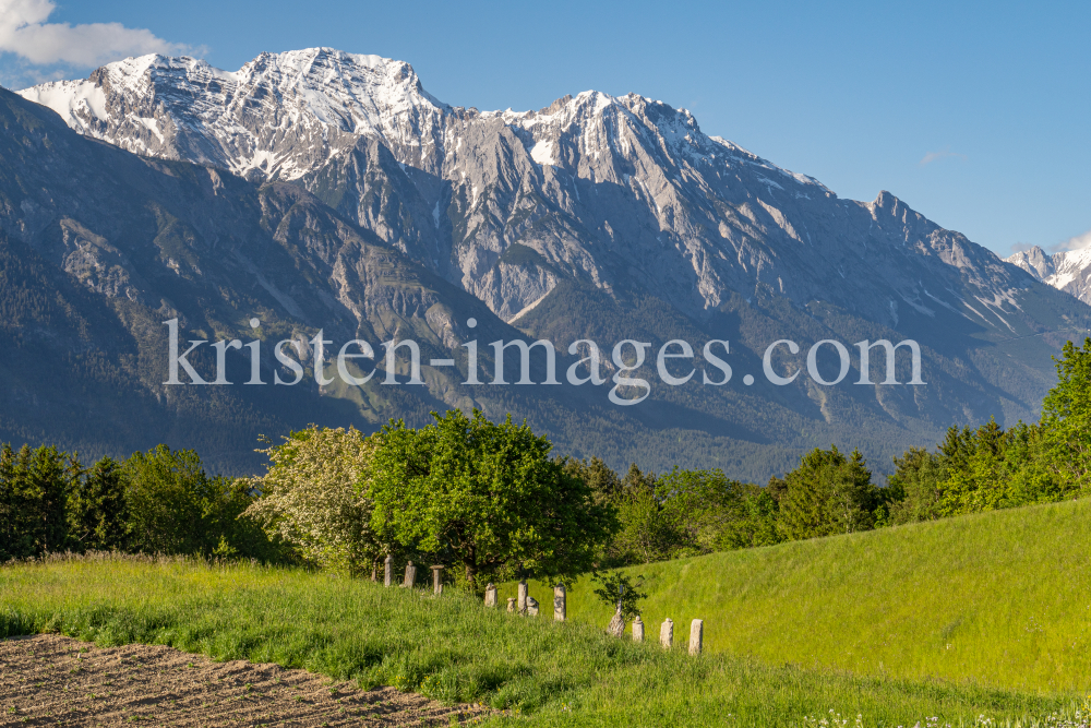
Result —
POLYGON ((0 641, 0 726, 446 726, 479 706, 356 690, 277 665, 41 634, 0 641))

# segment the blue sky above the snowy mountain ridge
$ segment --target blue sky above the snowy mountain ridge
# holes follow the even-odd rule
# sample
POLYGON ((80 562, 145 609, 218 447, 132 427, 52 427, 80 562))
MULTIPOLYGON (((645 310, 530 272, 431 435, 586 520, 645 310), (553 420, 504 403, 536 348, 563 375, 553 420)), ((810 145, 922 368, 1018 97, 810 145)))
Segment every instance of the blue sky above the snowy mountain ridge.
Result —
POLYGON ((0 0, 10 87, 148 48, 236 70, 310 46, 409 61, 433 95, 481 109, 636 92, 1002 255, 1091 243, 1089 2, 0 0))

